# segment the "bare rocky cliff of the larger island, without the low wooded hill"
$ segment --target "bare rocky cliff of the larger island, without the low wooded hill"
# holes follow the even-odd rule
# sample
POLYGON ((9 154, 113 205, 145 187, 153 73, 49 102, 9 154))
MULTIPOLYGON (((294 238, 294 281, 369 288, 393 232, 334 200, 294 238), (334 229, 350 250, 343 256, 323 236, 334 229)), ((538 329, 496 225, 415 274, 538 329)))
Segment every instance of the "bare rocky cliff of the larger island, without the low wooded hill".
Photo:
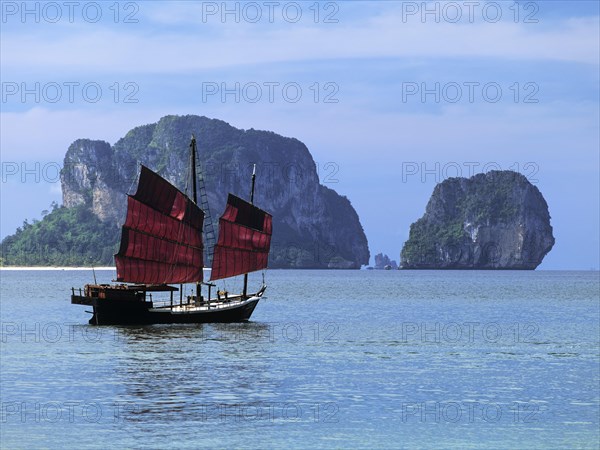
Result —
POLYGON ((358 215, 348 199, 319 184, 315 162, 304 144, 206 117, 163 117, 134 128, 113 146, 75 141, 61 174, 64 206, 87 205, 103 221, 121 224, 126 193, 135 189, 139 164, 186 191, 192 133, 198 141, 215 230, 227 194, 248 197, 256 163, 255 203, 273 214, 270 267, 360 268, 368 263, 358 215))

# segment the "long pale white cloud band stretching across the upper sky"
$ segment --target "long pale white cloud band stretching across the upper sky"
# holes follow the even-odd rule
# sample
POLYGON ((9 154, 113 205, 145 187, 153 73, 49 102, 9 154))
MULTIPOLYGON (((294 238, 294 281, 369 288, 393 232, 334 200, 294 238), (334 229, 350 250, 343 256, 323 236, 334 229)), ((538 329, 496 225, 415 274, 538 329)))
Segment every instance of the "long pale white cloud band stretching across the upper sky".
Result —
POLYGON ((559 26, 500 23, 402 23, 397 10, 336 26, 272 28, 225 24, 208 34, 150 26, 75 29, 27 36, 4 32, 5 74, 21 70, 97 74, 165 74, 345 58, 496 58, 599 62, 597 17, 568 19, 559 26))

